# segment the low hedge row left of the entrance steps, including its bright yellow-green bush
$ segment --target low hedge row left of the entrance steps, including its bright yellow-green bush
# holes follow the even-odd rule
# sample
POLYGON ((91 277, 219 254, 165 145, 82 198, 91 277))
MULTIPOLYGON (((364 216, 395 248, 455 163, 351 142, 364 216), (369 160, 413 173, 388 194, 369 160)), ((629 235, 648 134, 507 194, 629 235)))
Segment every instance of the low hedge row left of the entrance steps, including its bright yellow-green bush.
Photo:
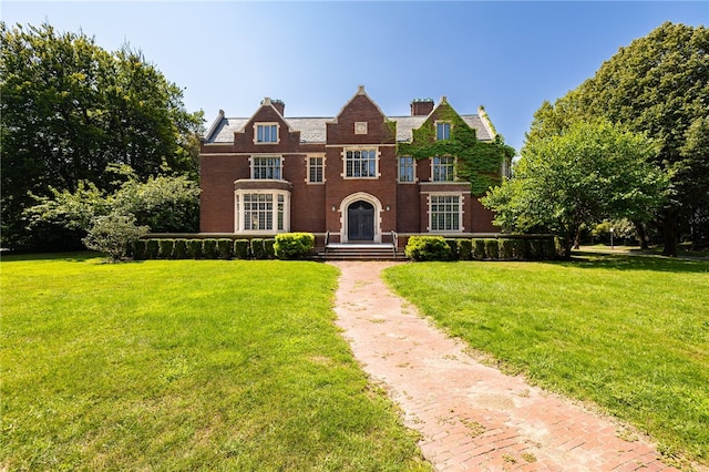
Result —
POLYGON ((286 233, 275 238, 147 238, 131 245, 135 260, 145 259, 302 259, 310 255, 315 236, 286 233))

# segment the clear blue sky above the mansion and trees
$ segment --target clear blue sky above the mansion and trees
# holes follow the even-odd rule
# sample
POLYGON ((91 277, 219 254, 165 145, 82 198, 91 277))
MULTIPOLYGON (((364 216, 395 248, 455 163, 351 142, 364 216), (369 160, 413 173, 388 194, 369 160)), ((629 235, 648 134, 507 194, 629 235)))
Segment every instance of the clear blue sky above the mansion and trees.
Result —
POLYGON ((8 1, 6 23, 49 22, 102 48, 143 51, 185 89, 188 111, 250 116, 265 96, 286 116, 335 116, 364 85, 388 115, 441 96, 484 105, 507 144, 534 112, 665 21, 709 25, 709 1, 8 1))

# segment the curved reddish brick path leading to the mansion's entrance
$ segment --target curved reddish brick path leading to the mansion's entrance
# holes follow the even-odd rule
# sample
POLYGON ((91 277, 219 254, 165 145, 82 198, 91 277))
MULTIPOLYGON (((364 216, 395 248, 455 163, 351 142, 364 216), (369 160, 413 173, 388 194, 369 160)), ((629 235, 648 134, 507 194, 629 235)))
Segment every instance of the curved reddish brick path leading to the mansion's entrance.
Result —
POLYGON ((612 419, 476 362, 388 289, 379 275, 395 263, 330 264, 345 338, 436 470, 675 470, 612 419))

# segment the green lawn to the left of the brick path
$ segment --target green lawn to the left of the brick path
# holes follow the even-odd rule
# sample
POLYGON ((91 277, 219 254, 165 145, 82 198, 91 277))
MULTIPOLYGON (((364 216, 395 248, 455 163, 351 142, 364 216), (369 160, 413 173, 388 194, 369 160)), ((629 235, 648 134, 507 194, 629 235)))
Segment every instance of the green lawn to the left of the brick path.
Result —
POLYGON ((315 263, 0 263, 2 470, 428 470, 315 263))

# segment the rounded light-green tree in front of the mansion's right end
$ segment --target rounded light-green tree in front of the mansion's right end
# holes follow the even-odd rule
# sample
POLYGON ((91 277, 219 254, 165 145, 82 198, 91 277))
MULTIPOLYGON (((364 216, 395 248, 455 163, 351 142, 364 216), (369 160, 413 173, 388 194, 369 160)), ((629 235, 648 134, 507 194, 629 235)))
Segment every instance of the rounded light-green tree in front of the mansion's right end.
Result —
POLYGON ((561 135, 528 140, 514 177, 481 199, 507 230, 551 230, 566 256, 582 225, 639 218, 662 202, 667 175, 656 145, 606 121, 578 122, 561 135))

